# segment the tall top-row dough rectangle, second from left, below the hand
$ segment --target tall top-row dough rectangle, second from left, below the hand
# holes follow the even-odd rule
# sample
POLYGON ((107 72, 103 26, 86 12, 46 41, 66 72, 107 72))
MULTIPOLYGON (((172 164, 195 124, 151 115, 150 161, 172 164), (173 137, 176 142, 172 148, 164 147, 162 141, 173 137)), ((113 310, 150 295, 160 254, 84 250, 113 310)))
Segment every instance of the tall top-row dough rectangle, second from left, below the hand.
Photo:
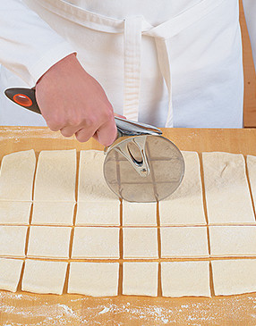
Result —
POLYGON ((34 200, 38 202, 74 202, 75 178, 75 149, 40 152, 34 200))

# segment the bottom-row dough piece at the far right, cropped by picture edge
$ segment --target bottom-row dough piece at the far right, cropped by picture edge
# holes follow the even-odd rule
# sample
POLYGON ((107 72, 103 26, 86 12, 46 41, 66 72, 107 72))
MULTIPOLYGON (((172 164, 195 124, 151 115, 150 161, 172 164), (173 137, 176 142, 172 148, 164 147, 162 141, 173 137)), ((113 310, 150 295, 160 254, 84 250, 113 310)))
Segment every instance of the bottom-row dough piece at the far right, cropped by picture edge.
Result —
POLYGON ((235 259, 211 262, 216 296, 256 291, 256 260, 235 259))

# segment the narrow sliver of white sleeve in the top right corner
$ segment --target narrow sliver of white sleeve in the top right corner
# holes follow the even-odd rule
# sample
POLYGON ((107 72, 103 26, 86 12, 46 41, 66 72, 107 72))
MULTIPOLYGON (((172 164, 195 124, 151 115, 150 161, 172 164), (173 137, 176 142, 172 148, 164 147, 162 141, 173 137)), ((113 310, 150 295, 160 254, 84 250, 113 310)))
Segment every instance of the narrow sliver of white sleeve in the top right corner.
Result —
POLYGON ((243 0, 243 10, 246 19, 247 29, 251 39, 252 55, 256 69, 256 1, 243 0))

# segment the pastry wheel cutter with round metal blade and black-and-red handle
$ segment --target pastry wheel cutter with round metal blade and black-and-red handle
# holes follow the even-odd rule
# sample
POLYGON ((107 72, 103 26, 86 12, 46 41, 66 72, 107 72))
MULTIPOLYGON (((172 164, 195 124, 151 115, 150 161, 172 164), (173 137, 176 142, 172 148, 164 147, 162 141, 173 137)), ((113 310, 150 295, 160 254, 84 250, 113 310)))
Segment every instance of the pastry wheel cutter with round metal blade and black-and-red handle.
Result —
MULTIPOLYGON (((14 103, 40 113, 33 88, 8 88, 4 93, 14 103)), ((156 127, 119 117, 115 124, 117 138, 105 148, 107 186, 129 202, 157 202, 170 196, 183 180, 180 150, 156 127)))

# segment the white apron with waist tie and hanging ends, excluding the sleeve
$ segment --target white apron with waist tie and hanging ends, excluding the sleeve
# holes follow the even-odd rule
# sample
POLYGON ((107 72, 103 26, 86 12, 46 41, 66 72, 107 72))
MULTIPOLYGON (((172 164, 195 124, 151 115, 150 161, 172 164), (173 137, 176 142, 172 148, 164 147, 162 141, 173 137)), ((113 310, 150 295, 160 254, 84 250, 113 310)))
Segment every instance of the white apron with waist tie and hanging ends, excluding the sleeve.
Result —
MULTIPOLYGON (((64 0, 26 3, 77 48, 115 113, 158 127, 243 126, 238 1, 201 0, 158 26, 141 14, 116 19, 64 0)), ((1 91, 16 86, 24 84, 2 71, 1 91)), ((7 110, 3 102, 1 124, 44 124, 35 113, 11 103, 7 110)))

